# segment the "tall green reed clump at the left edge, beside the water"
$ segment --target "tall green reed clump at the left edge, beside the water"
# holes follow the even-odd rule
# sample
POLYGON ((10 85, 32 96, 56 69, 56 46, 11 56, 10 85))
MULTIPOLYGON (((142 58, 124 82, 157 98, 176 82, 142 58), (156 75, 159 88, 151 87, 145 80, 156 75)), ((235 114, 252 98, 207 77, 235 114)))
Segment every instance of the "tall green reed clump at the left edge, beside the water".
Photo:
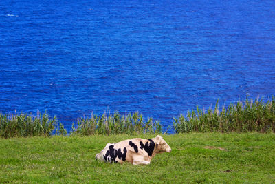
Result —
POLYGON ((50 136, 56 130, 56 134, 67 134, 63 125, 54 116, 50 119, 47 112, 36 114, 0 114, 0 136, 5 138, 19 136, 50 136))

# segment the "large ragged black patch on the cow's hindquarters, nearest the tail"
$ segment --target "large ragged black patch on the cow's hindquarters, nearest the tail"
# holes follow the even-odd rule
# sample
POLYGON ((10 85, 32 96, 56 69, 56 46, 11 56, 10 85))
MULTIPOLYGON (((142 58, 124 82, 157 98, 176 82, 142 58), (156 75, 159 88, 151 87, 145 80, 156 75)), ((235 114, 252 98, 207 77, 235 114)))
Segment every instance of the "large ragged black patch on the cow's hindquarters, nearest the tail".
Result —
POLYGON ((121 149, 115 150, 113 149, 113 145, 109 146, 109 150, 107 150, 106 154, 103 155, 105 161, 109 161, 111 163, 117 163, 115 158, 118 156, 118 159, 122 159, 122 161, 126 161, 126 153, 127 149, 124 147, 124 153, 122 154, 121 149))

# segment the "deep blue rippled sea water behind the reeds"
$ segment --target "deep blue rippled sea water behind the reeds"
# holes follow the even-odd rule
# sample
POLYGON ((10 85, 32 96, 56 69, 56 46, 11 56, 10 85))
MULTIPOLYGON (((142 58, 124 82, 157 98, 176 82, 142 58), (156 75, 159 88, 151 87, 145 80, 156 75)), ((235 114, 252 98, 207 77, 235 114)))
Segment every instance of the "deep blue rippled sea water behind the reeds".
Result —
POLYGON ((188 110, 275 94, 275 1, 0 1, 0 111, 188 110))

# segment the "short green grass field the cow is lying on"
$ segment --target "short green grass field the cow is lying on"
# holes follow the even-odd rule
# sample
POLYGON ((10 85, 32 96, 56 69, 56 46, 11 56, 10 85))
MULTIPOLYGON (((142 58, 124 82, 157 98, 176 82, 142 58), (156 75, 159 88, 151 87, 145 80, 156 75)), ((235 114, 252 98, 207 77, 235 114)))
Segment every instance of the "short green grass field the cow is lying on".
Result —
POLYGON ((115 135, 0 139, 0 183, 275 182, 275 134, 164 135, 172 153, 158 154, 151 165, 95 161, 95 154, 106 143, 131 138, 115 135))

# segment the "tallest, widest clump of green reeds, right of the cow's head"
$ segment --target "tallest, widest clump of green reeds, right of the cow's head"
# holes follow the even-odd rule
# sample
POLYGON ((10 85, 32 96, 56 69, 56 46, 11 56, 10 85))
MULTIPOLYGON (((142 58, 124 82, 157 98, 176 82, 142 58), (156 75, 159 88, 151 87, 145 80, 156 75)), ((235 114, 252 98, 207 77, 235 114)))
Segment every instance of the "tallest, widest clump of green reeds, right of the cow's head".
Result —
POLYGON ((219 109, 219 100, 215 108, 207 112, 197 108, 188 112, 187 117, 174 118, 175 133, 180 132, 275 132, 275 99, 263 102, 252 100, 248 96, 244 102, 230 104, 219 109))

